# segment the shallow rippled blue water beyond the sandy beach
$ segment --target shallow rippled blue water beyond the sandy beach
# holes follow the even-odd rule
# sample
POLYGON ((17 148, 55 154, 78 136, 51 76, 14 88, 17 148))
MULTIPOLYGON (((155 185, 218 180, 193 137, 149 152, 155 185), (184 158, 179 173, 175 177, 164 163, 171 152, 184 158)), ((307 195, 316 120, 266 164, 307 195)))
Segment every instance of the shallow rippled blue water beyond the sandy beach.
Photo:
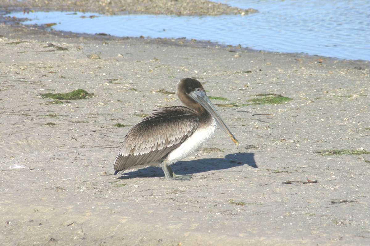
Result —
POLYGON ((370 60, 370 1, 223 0, 255 8, 250 15, 175 16, 97 13, 11 13, 24 24, 57 23, 54 30, 121 37, 182 38, 242 45, 257 50, 303 52, 370 60), (94 18, 81 18, 94 16, 94 18))

